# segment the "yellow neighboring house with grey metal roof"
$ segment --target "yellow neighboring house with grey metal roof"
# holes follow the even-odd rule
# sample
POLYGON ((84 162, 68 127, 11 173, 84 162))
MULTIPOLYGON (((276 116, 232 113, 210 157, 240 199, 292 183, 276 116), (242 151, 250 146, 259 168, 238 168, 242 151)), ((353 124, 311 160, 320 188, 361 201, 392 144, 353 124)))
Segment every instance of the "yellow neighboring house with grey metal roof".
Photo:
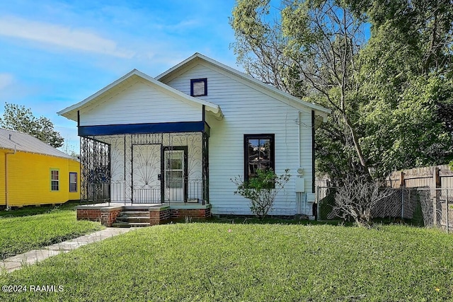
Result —
POLYGON ((0 128, 0 208, 80 199, 80 163, 22 132, 0 128))

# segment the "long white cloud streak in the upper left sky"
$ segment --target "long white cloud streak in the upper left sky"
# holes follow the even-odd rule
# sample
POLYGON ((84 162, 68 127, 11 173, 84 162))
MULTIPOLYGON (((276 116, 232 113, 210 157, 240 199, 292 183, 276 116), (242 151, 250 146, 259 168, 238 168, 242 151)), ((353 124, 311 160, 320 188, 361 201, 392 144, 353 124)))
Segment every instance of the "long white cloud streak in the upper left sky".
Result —
POLYGON ((120 49, 117 42, 101 37, 89 30, 29 21, 22 18, 1 18, 0 35, 33 40, 71 50, 107 54, 113 57, 131 58, 134 56, 134 52, 120 49))

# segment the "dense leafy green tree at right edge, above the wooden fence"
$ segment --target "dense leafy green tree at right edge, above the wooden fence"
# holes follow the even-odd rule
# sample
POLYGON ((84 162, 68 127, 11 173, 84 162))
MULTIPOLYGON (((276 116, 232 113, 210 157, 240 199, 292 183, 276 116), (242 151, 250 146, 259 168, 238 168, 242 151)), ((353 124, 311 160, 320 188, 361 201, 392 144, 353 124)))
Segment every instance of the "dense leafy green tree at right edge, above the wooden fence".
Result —
POLYGON ((366 13, 371 37, 360 53, 362 147, 386 175, 453 157, 453 1, 349 1, 366 13))

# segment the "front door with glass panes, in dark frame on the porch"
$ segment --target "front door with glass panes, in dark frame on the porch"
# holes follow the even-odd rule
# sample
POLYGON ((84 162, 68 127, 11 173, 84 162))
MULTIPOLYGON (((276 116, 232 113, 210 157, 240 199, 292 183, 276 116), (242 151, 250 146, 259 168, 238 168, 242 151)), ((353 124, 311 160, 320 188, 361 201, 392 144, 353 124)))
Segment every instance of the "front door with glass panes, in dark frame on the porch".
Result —
POLYGON ((187 146, 164 148, 164 200, 165 202, 187 202, 188 156, 187 146))

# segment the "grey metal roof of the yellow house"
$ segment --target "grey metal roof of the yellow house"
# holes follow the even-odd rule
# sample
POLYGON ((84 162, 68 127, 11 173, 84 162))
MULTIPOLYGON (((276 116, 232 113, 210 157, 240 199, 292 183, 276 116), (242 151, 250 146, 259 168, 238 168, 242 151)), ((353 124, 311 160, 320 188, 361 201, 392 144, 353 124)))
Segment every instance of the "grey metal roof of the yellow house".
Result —
POLYGON ((0 148, 74 159, 30 134, 3 128, 0 128, 0 148))

